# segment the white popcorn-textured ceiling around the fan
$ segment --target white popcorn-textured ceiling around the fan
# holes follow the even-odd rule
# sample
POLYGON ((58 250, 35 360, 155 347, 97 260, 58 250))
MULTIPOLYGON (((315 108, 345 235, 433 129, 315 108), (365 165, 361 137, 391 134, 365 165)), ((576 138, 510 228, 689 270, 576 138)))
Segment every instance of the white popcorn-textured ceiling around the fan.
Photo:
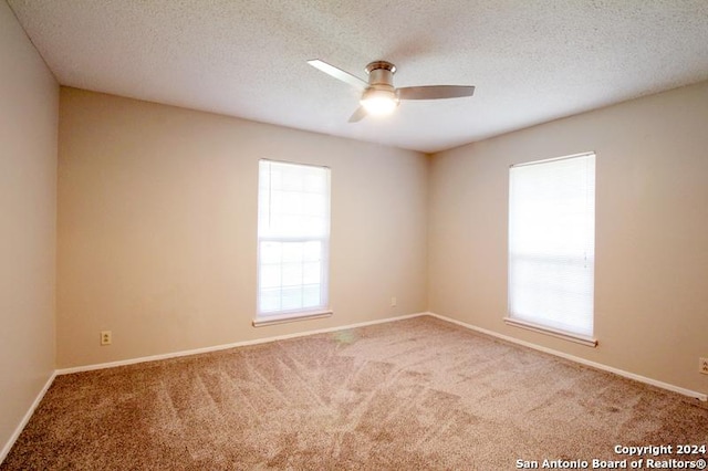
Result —
POLYGON ((62 85, 433 153, 708 80, 707 0, 9 0, 62 85), (347 123, 357 93, 476 85, 347 123))

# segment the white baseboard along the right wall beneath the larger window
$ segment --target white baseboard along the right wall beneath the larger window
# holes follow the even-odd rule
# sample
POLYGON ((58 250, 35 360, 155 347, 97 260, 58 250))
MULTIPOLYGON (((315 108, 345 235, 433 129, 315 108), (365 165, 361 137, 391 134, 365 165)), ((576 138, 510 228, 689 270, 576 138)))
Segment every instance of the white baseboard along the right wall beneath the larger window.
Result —
POLYGON ((662 389, 668 389, 670 391, 678 393, 678 394, 681 394, 684 396, 696 398, 696 399, 701 400, 704 402, 708 401, 708 395, 705 395, 702 393, 698 393, 698 391, 694 391, 694 390, 690 390, 690 389, 686 389, 686 388, 683 388, 680 386, 671 385, 669 383, 659 381, 657 379, 647 378, 646 376, 636 375, 634 373, 625 371, 624 369, 620 369, 620 368, 615 368, 615 367, 612 367, 612 366, 603 365, 602 363, 591 362, 589 359, 581 358, 579 356, 574 356, 574 355, 570 355, 570 354, 566 354, 566 353, 563 353, 563 352, 554 350, 552 348, 546 348, 546 347, 543 347, 541 345, 532 344, 530 342, 520 341, 518 338, 510 337, 508 335, 503 335, 503 334, 499 334, 499 333, 493 332, 493 331, 488 331, 486 328, 477 327, 475 325, 467 324, 467 323, 457 321, 455 318, 446 317, 446 316, 442 316, 442 315, 439 315, 439 314, 435 314, 435 313, 426 313, 426 314, 431 315, 433 317, 437 317, 437 318, 442 320, 442 321, 450 322, 452 324, 460 325, 462 327, 469 328, 470 331, 476 331, 476 332, 479 332, 479 333, 482 333, 482 334, 486 334, 486 335, 490 335, 492 337, 500 338, 500 339, 506 341, 506 342, 510 342, 510 343, 518 344, 518 345, 523 345, 524 347, 533 348, 535 350, 540 350, 540 352, 543 352, 543 353, 546 353, 546 354, 555 355, 555 356, 559 356, 561 358, 570 359, 571 362, 580 363, 581 365, 590 366, 590 367, 593 367, 593 368, 596 368, 596 369, 602 369, 602 370, 608 371, 608 373, 614 373, 615 375, 623 376, 623 377, 629 378, 629 379, 634 379, 634 380, 639 381, 639 383, 645 383, 647 385, 656 386, 656 387, 662 388, 662 389))

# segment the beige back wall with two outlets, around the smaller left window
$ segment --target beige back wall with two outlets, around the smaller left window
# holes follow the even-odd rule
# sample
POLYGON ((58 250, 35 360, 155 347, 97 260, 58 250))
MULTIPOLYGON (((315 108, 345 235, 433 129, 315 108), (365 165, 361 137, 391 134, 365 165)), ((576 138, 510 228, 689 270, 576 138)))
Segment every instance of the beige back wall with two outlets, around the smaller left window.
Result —
POLYGON ((59 154, 60 367, 427 307, 421 154, 64 87, 59 154), (251 326, 259 158, 332 168, 330 318, 251 326))

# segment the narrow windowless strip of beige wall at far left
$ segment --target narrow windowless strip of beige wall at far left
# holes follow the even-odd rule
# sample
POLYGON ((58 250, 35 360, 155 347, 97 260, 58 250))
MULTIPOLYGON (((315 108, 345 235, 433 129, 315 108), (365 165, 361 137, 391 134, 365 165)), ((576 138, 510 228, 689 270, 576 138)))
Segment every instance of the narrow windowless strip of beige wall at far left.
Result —
POLYGON ((59 85, 0 1, 0 461, 54 370, 59 85))

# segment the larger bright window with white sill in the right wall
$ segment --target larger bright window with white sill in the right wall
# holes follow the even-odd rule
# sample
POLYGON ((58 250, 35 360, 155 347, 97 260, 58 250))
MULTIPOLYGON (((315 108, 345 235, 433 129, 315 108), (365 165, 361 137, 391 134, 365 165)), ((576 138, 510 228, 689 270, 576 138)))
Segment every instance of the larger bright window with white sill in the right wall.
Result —
POLYGON ((596 345, 594 261, 595 155, 512 166, 506 321, 596 345))

